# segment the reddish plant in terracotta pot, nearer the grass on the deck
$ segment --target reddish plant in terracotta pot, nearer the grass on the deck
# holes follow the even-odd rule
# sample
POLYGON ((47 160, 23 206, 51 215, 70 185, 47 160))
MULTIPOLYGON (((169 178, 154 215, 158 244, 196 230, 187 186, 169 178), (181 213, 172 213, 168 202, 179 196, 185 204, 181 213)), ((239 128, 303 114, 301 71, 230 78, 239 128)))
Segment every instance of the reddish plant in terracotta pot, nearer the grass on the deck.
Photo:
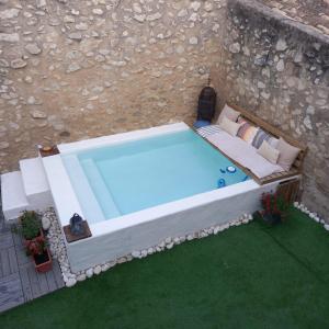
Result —
POLYGON ((35 270, 45 273, 52 270, 53 261, 44 236, 25 240, 26 253, 33 257, 35 270))

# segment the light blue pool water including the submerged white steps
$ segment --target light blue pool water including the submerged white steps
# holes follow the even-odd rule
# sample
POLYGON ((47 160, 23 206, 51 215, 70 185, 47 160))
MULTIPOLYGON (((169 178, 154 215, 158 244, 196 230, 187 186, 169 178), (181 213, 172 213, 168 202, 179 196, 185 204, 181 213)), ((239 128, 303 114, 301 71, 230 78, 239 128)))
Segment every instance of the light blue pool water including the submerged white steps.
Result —
POLYGON ((249 179, 192 129, 63 156, 91 222, 249 179))

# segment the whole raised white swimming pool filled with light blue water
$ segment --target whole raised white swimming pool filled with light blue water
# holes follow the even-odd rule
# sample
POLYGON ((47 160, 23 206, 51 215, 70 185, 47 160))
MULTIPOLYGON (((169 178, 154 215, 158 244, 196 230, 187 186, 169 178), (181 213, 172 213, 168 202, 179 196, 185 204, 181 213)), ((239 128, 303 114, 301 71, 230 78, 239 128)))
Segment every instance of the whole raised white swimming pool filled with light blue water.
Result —
POLYGON ((73 272, 252 214, 261 194, 280 183, 246 179, 184 123, 58 149, 42 161, 59 223, 68 225, 78 213, 92 235, 65 240, 73 272))

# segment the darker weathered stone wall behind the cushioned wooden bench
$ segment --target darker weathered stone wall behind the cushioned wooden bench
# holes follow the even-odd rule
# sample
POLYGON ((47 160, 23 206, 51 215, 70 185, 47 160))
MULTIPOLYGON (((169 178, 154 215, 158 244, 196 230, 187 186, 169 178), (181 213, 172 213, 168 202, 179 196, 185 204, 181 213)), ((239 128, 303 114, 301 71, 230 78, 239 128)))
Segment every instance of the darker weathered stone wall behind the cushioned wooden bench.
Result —
POLYGON ((329 37, 253 0, 228 1, 227 13, 217 89, 308 146, 303 198, 328 218, 329 37))

